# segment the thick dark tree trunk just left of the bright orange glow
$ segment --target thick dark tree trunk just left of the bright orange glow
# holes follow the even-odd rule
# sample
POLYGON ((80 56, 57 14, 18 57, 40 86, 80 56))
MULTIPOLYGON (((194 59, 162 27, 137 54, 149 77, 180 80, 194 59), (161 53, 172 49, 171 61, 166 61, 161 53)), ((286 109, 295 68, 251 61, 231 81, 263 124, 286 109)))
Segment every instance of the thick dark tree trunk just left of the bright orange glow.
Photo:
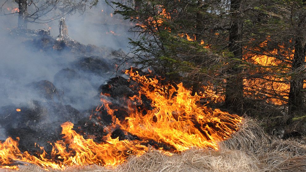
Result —
POLYGON ((226 80, 225 106, 237 113, 242 112, 243 83, 239 60, 242 60, 242 19, 240 17, 240 6, 242 0, 231 0, 230 17, 231 26, 229 28, 229 51, 234 54, 234 58, 229 70, 229 77, 226 80))

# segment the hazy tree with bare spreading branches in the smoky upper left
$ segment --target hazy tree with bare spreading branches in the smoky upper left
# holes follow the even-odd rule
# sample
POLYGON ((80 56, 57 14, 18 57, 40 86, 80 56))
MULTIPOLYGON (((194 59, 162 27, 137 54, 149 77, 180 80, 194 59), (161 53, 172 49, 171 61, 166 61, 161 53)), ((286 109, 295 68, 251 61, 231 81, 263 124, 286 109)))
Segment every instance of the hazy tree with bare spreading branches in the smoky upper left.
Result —
POLYGON ((83 13, 86 7, 96 5, 98 0, 15 0, 18 10, 5 13, 3 8, 10 2, 6 0, 1 5, 1 15, 19 13, 18 28, 27 29, 27 22, 49 23, 75 12, 83 13))

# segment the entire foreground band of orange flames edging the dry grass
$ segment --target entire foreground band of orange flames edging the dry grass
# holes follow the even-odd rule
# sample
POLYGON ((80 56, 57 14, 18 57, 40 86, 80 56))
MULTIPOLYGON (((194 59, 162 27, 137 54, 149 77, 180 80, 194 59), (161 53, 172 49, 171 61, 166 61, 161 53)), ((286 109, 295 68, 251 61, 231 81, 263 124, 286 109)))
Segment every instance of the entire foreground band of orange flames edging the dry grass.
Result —
POLYGON ((14 165, 15 161, 36 164, 46 170, 64 170, 66 166, 92 164, 117 166, 126 161, 129 155, 146 153, 150 140, 171 147, 171 151, 158 148, 171 156, 192 147, 218 149, 218 142, 238 130, 242 117, 199 105, 201 96, 191 96, 182 83, 164 86, 156 78, 140 76, 132 70, 126 73, 140 87, 139 95, 127 99, 128 116, 125 120, 120 121, 116 117, 117 109, 111 108, 112 102, 107 100, 110 94, 107 93, 101 93, 102 105, 96 111, 105 110, 112 117, 113 123, 107 127, 108 130, 119 127, 124 132, 136 135, 141 141, 119 140, 118 137, 112 138, 109 132, 101 143, 97 143, 74 131, 71 122, 65 122, 61 125, 63 140, 51 143, 51 159, 47 158, 43 147, 40 147, 41 152, 36 156, 27 151, 22 153, 18 148, 19 138, 13 140, 9 137, 3 143, 0 142, 0 167, 18 169, 14 165), (135 102, 142 103, 141 95, 152 101, 151 110, 136 107, 135 102))

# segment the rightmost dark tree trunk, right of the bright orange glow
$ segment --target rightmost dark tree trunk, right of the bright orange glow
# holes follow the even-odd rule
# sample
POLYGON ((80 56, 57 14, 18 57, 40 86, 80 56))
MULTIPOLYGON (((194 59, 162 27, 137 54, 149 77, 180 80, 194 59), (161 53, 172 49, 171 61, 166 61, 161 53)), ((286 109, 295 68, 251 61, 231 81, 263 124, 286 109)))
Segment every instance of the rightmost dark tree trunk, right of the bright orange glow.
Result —
POLYGON ((299 16, 299 23, 296 31, 295 43, 294 43, 294 56, 292 62, 292 72, 294 75, 290 80, 290 91, 288 100, 288 114, 293 117, 296 113, 303 110, 304 106, 304 93, 303 84, 304 76, 301 74, 302 68, 305 65, 306 55, 306 13, 302 13, 299 16))

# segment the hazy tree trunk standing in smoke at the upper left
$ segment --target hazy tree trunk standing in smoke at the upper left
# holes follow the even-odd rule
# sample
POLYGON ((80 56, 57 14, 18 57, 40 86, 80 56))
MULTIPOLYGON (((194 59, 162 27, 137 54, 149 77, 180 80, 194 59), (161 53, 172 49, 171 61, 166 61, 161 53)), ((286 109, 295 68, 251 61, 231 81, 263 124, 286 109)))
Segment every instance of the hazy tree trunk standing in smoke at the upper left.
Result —
POLYGON ((27 0, 17 0, 19 7, 18 28, 27 29, 28 6, 27 0))

